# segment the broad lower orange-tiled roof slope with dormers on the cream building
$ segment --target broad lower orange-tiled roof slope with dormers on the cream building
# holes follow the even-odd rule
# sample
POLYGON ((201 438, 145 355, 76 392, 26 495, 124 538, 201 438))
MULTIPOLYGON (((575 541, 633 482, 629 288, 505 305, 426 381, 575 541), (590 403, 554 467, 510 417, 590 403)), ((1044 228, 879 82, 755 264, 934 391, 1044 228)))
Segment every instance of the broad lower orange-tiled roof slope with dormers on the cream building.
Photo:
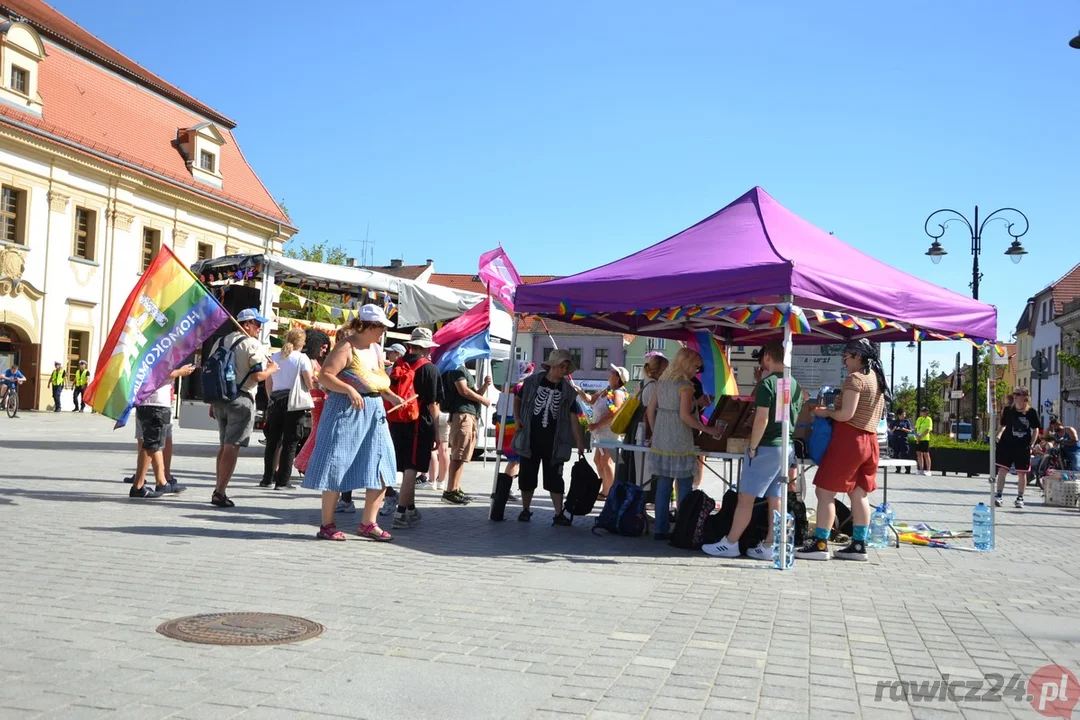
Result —
MULTIPOLYGON (((67 24, 60 24, 63 27, 70 26, 92 37, 43 3, 0 0, 0 8, 4 6, 28 18, 30 10, 37 9, 40 11, 37 13, 39 18, 60 18, 67 24)), ((37 25, 36 28, 46 37, 55 35, 46 33, 37 25)), ((108 50, 104 43, 97 42, 108 50)), ((50 138, 43 135, 46 140, 81 154, 103 160, 95 155, 102 153, 112 159, 114 165, 134 166, 135 172, 141 171, 149 177, 157 176, 156 179, 198 191, 211 200, 222 201, 293 228, 247 164, 230 132, 234 123, 218 121, 220 124, 217 125, 225 137, 218 158, 221 189, 197 182, 175 145, 176 136, 181 128, 205 122, 210 113, 197 114, 147 86, 133 84, 92 59, 73 55, 54 43, 46 42, 46 52, 48 57, 38 66, 42 117, 0 104, 0 122, 19 123, 26 132, 55 136, 50 138)), ((110 52, 122 57, 116 51, 110 52)), ((212 117, 218 116, 213 113, 212 117)))

